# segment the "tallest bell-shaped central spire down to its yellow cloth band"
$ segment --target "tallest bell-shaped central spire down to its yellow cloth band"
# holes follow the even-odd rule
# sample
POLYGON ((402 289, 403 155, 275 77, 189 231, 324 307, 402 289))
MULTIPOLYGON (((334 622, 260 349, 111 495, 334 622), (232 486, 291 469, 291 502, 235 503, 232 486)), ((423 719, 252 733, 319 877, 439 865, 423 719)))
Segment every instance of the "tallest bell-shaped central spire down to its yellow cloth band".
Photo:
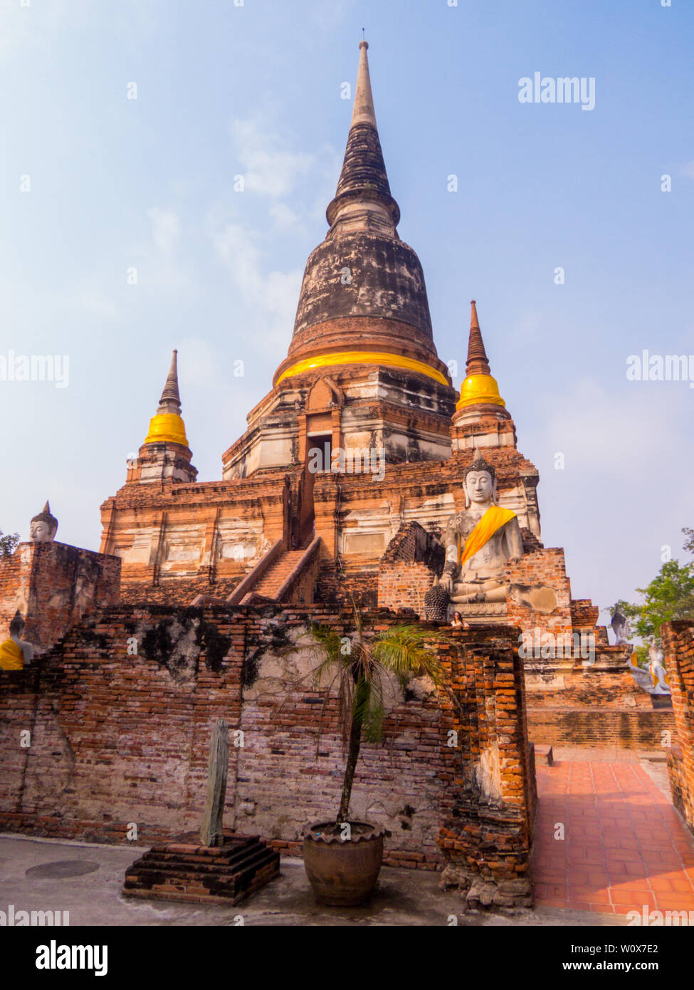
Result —
POLYGON ((317 368, 376 365, 413 371, 447 389, 422 265, 398 236, 400 210, 376 130, 367 51, 362 41, 345 160, 326 213, 330 230, 306 262, 292 342, 273 383, 317 368))

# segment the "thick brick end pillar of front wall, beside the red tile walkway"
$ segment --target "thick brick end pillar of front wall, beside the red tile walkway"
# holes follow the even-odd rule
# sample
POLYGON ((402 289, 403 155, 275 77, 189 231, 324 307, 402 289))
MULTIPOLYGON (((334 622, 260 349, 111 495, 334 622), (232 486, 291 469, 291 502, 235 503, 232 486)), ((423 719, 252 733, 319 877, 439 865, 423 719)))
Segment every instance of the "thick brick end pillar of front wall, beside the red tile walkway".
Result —
POLYGON ((461 706, 449 702, 447 714, 462 758, 446 794, 443 879, 466 889, 467 903, 475 907, 532 904, 529 850, 537 793, 517 634, 503 626, 463 631, 456 635, 465 648, 449 654, 461 706))

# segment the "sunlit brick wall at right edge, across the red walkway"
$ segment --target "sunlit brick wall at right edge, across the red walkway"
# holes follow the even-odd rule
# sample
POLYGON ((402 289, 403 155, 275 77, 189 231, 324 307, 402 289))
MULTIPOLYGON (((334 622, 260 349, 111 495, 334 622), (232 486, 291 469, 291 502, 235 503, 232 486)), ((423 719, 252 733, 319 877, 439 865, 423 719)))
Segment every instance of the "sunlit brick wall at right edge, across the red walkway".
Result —
POLYGON ((694 832, 694 624, 668 622, 660 635, 677 734, 667 757, 672 800, 694 832))

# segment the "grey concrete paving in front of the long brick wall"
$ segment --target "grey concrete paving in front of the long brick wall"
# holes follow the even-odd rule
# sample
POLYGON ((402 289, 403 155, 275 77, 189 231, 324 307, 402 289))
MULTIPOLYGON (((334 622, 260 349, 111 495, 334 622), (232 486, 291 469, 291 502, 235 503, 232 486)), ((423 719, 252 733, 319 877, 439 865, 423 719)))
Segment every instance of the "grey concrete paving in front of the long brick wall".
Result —
POLYGON ((124 897, 121 890, 126 867, 143 851, 143 847, 134 845, 126 848, 1 835, 0 911, 7 912, 10 905, 14 905, 15 913, 67 911, 72 926, 448 926, 453 924, 453 919, 466 927, 595 926, 625 922, 622 917, 551 908, 511 917, 463 915, 459 895, 438 889, 438 873, 387 866, 381 870, 378 890, 369 905, 319 907, 314 903, 299 859, 283 859, 281 877, 236 907, 201 907, 124 897), (51 863, 60 865, 50 866, 51 863), (71 875, 88 865, 96 869, 71 875), (40 866, 44 869, 35 869, 40 866))

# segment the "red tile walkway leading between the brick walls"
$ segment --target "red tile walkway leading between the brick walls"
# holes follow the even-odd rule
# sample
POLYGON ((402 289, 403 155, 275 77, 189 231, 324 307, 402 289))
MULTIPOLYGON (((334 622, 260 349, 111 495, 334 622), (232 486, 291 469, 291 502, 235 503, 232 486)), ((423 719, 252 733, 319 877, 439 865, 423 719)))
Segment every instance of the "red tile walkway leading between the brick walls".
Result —
POLYGON ((538 906, 694 912, 694 841, 639 763, 538 767, 538 906), (554 839, 556 823, 565 839, 554 839))

